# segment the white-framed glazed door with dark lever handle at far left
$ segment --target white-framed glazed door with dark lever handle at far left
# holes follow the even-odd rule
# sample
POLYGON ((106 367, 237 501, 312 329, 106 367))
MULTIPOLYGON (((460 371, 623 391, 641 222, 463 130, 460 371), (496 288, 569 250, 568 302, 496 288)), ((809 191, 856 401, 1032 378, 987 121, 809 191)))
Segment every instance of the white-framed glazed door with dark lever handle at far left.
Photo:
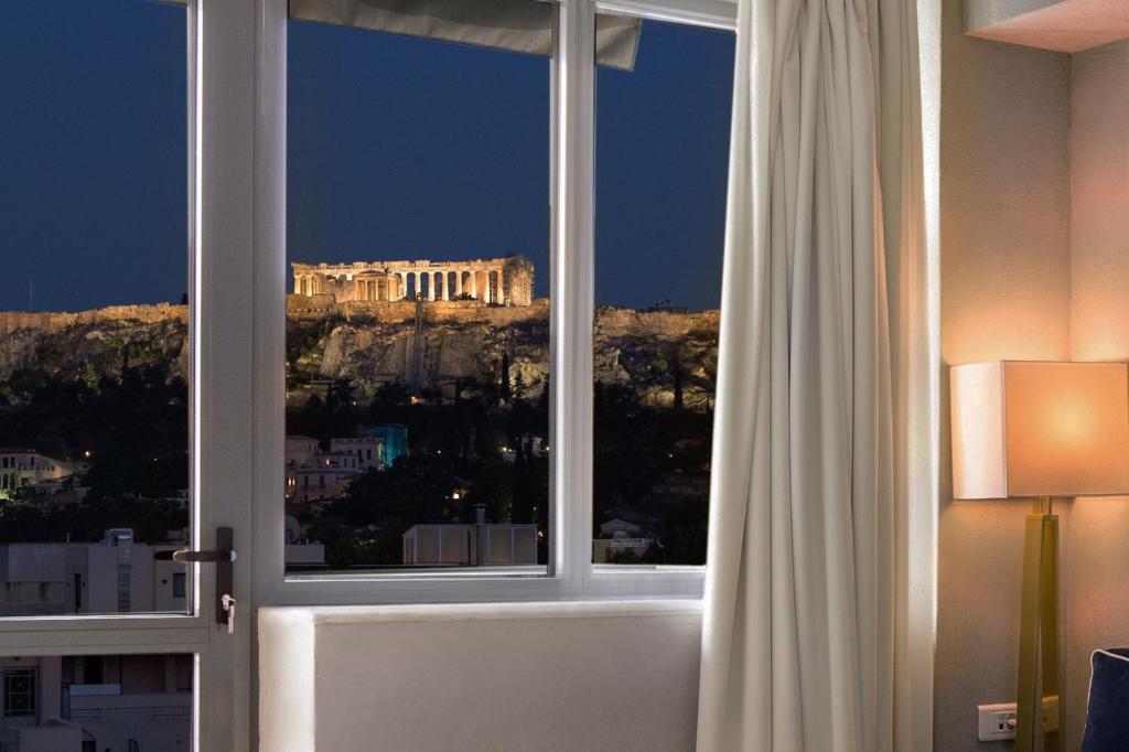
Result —
POLYGON ((251 358, 231 336, 248 296, 226 282, 252 247, 239 230, 253 177, 238 158, 253 93, 233 73, 247 68, 233 61, 255 38, 251 11, 3 3, 5 749, 222 750, 247 727, 250 697, 230 689, 247 648, 216 629, 216 578, 155 553, 212 548, 248 496, 251 358), (230 86, 198 87, 201 73, 230 86), (138 655, 100 655, 107 646, 138 655), (102 670, 84 679, 94 659, 102 670), (134 680, 134 697, 110 694, 134 680), (175 701, 145 697, 173 683, 175 701), (196 701, 209 711, 193 724, 196 701))

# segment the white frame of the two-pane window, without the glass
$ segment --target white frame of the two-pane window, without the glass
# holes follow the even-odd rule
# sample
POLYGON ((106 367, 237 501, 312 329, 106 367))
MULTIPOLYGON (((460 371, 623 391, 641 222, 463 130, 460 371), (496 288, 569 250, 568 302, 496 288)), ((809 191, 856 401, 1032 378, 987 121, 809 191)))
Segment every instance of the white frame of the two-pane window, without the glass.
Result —
MULTIPOLYGON (((470 0, 473 1, 473 0, 470 0)), ((481 570, 286 576, 287 0, 256 0, 253 498, 255 606, 700 597, 703 567, 592 563, 595 19, 629 15, 735 30, 736 0, 543 0, 559 7, 551 60, 552 514, 546 574, 481 570)))

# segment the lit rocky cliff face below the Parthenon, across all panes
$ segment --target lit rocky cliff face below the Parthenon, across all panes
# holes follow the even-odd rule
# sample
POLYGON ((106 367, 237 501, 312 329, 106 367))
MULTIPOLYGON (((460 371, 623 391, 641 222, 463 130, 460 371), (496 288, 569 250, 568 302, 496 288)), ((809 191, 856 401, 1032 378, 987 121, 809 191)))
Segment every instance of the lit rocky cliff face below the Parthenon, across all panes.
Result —
MULTIPOLYGON (((456 379, 500 378, 504 358, 515 391, 535 399, 549 378, 549 301, 500 308, 474 301, 287 304, 287 399, 301 403, 334 379, 359 400, 402 382, 452 396, 456 379)), ((598 308, 595 376, 633 388, 649 404, 712 404, 718 314, 598 308)), ((21 368, 95 383, 123 366, 187 371, 184 306, 122 306, 78 314, 0 313, 0 390, 21 368)), ((9 399, 12 395, 8 395, 9 399)))

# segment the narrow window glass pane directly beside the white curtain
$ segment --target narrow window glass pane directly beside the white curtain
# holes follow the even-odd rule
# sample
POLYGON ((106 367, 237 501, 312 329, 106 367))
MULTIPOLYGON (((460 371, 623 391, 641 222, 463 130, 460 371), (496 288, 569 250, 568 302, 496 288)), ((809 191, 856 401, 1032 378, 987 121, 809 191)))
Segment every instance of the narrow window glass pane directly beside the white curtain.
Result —
POLYGON ((597 563, 706 561, 733 56, 646 20, 596 71, 597 563))

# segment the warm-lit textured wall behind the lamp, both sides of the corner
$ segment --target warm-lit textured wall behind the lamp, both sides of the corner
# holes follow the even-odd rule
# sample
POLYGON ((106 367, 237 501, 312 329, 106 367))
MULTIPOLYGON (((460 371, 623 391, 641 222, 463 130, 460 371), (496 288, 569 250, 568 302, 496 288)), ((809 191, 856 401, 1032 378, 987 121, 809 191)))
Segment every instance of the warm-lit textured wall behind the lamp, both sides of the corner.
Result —
MULTIPOLYGON (((1129 360, 1129 43, 1071 56, 983 42, 960 34, 960 3, 945 2, 943 359, 1129 360)), ((947 430, 942 451, 945 499, 947 430)), ((1127 501, 1056 507, 1068 752, 1085 723, 1089 653, 1129 645, 1127 501)), ((1014 700, 1025 513, 943 505, 938 751, 1010 749, 978 743, 974 714, 1014 700)))

